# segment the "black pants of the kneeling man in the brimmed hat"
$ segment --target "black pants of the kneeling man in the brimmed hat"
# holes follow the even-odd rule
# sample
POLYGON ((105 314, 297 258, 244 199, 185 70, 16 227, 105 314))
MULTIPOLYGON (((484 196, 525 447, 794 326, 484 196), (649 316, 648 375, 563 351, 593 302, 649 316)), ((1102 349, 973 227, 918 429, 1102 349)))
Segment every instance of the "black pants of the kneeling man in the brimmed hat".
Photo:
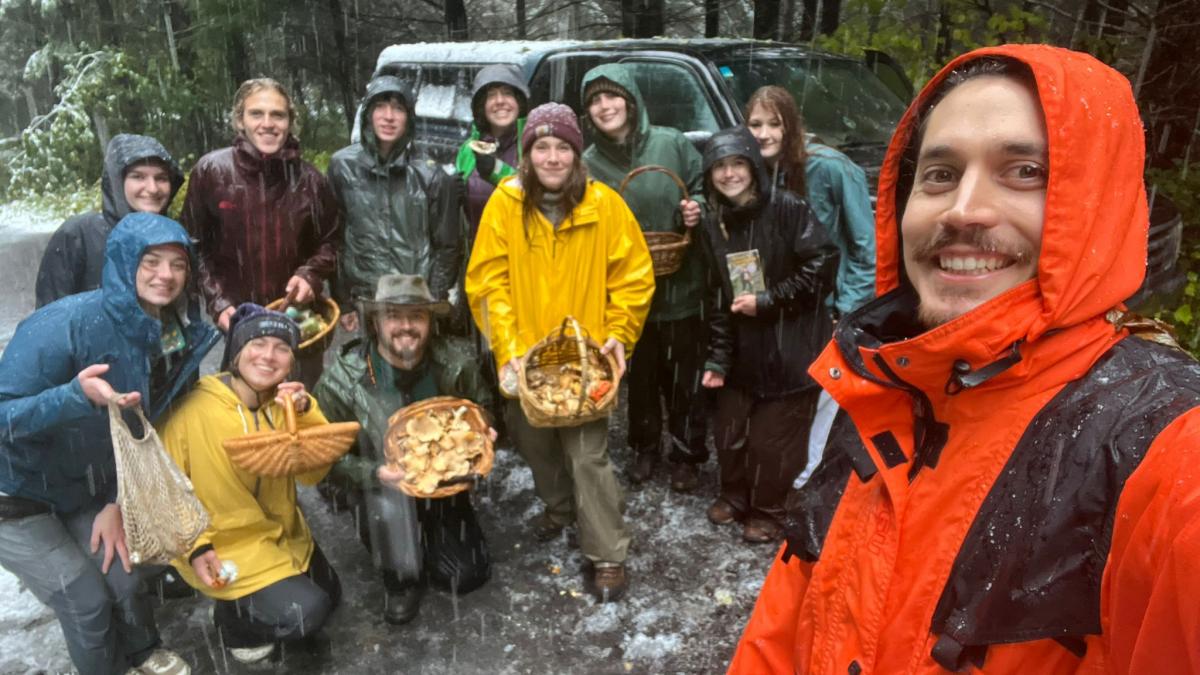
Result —
MULTIPOLYGON (((491 579, 487 542, 468 492, 440 500, 416 500, 416 519, 421 526, 424 581, 452 593, 469 593, 491 579)), ((365 522, 365 514, 360 514, 358 520, 365 522)), ((359 534, 370 546, 367 532, 359 534)), ((420 580, 402 579, 395 572, 384 569, 383 583, 389 591, 398 591, 420 580)))

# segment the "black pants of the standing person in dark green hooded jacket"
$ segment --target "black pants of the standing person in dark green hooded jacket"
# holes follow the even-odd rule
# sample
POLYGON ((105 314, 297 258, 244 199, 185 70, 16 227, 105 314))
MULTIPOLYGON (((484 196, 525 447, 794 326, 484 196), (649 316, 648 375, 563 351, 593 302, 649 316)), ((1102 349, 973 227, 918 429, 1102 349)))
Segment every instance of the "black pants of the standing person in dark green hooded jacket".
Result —
POLYGON ((629 362, 629 446, 658 456, 662 402, 673 462, 704 464, 704 406, 700 378, 708 340, 700 317, 648 321, 629 362))

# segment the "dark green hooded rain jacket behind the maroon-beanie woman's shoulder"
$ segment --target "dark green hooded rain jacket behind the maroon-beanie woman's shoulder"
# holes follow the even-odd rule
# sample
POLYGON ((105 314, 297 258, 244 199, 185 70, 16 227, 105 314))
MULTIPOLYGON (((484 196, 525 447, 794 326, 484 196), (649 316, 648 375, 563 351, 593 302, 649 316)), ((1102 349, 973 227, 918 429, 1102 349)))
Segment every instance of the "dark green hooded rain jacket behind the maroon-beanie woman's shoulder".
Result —
MULTIPOLYGON (((599 78, 612 80, 634 96, 637 129, 620 145, 602 133, 595 133, 595 143, 583 151, 583 162, 592 178, 616 190, 622 179, 635 168, 659 165, 683 179, 690 198, 703 204, 704 173, 700 153, 691 142, 679 130, 650 125, 642 92, 626 66, 606 64, 592 68, 583 76, 581 96, 588 84, 599 78)), ((683 195, 665 174, 642 174, 629 184, 622 196, 634 211, 642 232, 683 231, 679 216, 683 195)), ((701 313, 704 304, 704 264, 696 237, 698 232, 692 233, 692 244, 688 247, 679 270, 655 279, 656 289, 648 321, 678 321, 701 313)))

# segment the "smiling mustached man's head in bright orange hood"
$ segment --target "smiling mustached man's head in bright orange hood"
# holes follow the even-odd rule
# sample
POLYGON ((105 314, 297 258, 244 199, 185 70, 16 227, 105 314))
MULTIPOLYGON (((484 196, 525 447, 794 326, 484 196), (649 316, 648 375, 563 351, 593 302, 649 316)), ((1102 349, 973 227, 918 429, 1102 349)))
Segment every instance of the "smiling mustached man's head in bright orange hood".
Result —
POLYGON ((996 280, 930 323, 1003 297, 1014 340, 1103 315, 1145 274, 1144 154, 1128 80, 1094 58, 1003 46, 955 59, 910 106, 881 171, 878 294, 911 285, 944 309, 938 298, 996 280), (988 56, 1015 61, 1016 74, 947 91, 952 73, 988 56))

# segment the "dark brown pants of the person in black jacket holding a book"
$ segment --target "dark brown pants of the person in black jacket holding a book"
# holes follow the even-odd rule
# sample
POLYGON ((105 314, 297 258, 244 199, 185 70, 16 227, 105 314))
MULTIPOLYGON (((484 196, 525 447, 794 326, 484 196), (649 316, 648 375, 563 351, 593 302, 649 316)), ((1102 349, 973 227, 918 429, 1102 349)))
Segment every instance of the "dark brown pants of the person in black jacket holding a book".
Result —
POLYGON ((724 387, 716 395, 714 440, 721 498, 744 516, 782 524, 784 500, 809 455, 809 428, 820 389, 755 399, 724 387))

